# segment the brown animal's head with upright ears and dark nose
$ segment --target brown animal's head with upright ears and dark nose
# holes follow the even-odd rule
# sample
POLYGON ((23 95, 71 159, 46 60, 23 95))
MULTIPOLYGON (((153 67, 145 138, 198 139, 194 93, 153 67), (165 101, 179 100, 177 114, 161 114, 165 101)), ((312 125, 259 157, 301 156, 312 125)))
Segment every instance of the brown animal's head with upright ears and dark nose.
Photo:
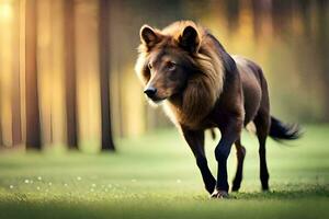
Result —
POLYGON ((200 48, 200 37, 193 22, 177 22, 162 31, 141 26, 135 69, 148 99, 159 103, 183 92, 197 72, 193 56, 200 48))

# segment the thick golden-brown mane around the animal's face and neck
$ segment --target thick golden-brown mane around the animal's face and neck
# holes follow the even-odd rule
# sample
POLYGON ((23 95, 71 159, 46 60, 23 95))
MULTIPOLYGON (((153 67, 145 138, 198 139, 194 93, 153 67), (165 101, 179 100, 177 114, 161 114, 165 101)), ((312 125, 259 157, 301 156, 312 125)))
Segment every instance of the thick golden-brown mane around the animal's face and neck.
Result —
MULTIPOLYGON (((186 26, 197 30, 200 47, 192 59, 198 69, 188 82, 181 96, 171 97, 166 101, 164 108, 171 120, 190 128, 197 128, 202 120, 209 114, 218 100, 224 83, 224 67, 219 49, 208 32, 191 21, 175 22, 162 31, 156 30, 162 41, 154 49, 161 49, 164 45, 178 46, 178 41, 186 26)), ((136 72, 143 83, 149 78, 145 76, 145 62, 150 50, 141 44, 138 47, 139 57, 136 62, 136 72)))

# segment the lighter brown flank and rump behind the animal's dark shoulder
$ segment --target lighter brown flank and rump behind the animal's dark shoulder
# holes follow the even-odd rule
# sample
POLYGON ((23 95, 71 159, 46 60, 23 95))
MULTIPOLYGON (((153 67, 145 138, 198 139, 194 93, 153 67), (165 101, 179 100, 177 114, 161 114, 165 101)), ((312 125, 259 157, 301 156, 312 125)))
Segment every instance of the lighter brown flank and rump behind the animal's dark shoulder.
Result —
POLYGON ((262 85, 264 78, 257 64, 240 56, 232 56, 232 58, 236 61, 242 83, 246 113, 245 125, 247 125, 257 115, 261 103, 265 101, 262 99, 268 97, 268 91, 266 88, 263 88, 262 85))

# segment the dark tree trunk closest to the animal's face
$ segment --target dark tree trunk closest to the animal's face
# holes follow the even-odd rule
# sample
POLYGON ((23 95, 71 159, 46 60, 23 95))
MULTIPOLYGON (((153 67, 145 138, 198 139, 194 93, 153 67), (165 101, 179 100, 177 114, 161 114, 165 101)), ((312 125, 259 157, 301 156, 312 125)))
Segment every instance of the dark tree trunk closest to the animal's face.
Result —
POLYGON ((110 1, 99 0, 99 59, 101 87, 102 151, 114 151, 110 105, 110 1))

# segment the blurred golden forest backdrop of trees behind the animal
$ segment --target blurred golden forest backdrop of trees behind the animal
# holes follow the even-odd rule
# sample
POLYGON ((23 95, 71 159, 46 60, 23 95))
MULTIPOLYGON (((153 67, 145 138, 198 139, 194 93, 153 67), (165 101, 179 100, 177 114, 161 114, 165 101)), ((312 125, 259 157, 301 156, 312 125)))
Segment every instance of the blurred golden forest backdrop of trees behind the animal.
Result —
POLYGON ((143 24, 185 19, 262 66, 272 114, 329 122, 327 0, 0 0, 0 147, 113 150, 171 126, 134 64, 143 24))

